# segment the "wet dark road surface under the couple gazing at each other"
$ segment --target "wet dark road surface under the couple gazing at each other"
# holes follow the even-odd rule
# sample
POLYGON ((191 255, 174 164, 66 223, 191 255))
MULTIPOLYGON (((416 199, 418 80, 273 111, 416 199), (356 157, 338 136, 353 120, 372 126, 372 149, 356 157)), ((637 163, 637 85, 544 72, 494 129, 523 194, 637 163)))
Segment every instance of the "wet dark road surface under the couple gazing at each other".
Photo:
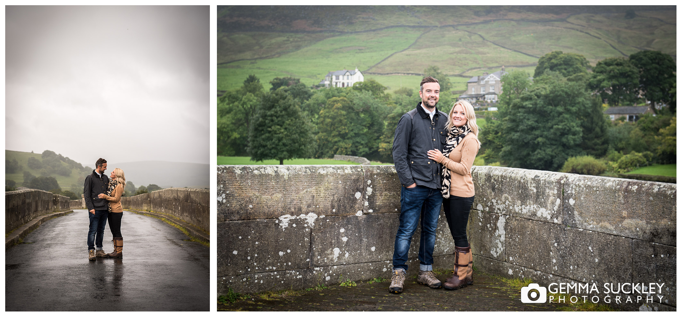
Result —
MULTIPOLYGON (((208 311, 209 247, 123 211, 123 259, 87 258, 87 210, 48 220, 5 251, 8 311, 208 311)), ((108 223, 104 251, 113 252, 108 223)))

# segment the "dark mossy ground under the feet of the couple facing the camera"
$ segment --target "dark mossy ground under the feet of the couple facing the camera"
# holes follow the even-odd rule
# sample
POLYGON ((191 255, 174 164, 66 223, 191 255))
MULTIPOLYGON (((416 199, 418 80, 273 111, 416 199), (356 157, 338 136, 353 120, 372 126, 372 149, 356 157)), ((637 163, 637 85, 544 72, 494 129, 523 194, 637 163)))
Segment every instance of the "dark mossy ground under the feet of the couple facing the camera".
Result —
MULTIPOLYGON (((439 280, 452 275, 440 273, 439 280)), ((388 276, 387 276, 388 277, 388 276)), ((565 304, 524 304, 520 290, 499 277, 474 272, 474 285, 458 290, 431 289, 407 277, 402 294, 388 292, 390 280, 284 292, 263 292, 235 303, 218 304, 218 311, 318 311, 318 312, 454 312, 454 311, 557 311, 565 304)))

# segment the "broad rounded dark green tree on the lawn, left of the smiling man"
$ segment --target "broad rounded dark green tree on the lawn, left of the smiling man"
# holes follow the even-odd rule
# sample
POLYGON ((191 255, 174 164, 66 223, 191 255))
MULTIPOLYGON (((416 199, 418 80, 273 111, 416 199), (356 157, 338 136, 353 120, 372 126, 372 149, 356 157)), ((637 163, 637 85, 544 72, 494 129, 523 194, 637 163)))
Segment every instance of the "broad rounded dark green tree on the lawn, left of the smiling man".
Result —
POLYGON ((249 130, 248 152, 251 160, 310 158, 314 137, 308 118, 299 102, 285 91, 263 94, 254 112, 249 130))

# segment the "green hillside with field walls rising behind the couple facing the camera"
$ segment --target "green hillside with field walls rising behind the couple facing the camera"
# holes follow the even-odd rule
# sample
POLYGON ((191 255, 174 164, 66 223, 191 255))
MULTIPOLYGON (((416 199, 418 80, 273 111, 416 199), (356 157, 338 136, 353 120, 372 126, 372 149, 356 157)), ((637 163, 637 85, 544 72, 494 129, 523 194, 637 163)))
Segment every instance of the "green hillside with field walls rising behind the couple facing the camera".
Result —
POLYGON ((394 91, 437 65, 458 91, 503 65, 532 74, 553 50, 592 65, 639 50, 677 58, 676 22, 674 6, 219 6, 218 89, 358 67, 394 91))

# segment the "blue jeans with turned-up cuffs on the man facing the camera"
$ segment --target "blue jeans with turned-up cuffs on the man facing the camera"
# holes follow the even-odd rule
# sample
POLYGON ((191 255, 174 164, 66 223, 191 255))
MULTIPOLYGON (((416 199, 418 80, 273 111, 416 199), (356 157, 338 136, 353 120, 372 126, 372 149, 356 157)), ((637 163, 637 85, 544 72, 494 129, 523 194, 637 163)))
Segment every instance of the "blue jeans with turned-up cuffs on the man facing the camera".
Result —
POLYGON ((412 235, 421 224, 419 239, 419 270, 433 270, 433 246, 436 243, 436 227, 441 213, 443 196, 440 189, 417 185, 400 190, 400 226, 396 233, 393 252, 393 269, 407 271, 407 252, 410 250, 412 235), (421 216, 421 222, 419 218, 421 216))

